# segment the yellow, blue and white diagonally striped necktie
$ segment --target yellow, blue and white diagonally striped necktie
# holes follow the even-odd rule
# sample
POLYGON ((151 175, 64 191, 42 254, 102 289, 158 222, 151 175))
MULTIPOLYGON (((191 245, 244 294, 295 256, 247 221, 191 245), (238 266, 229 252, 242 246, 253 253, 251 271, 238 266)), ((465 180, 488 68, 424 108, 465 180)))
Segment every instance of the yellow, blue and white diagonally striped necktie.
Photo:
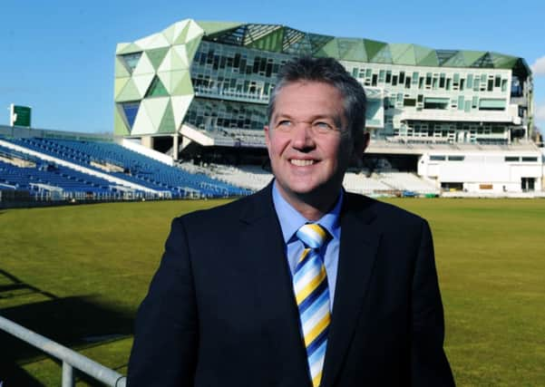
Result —
POLYGON ((331 320, 326 267, 319 254, 328 233, 317 224, 306 224, 299 228, 297 237, 305 245, 305 250, 297 262, 293 285, 307 348, 310 378, 313 387, 317 387, 322 379, 327 331, 331 320))

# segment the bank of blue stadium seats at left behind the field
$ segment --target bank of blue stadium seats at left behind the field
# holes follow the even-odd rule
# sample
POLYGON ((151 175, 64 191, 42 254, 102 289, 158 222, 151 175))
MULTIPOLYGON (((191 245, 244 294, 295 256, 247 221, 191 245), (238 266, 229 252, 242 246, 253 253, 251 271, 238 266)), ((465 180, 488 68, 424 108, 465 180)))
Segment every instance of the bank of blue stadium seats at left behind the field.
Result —
MULTIPOLYGON (((92 187, 102 187, 102 190, 87 189, 89 184, 85 184, 85 186, 80 187, 81 191, 78 191, 84 194, 79 194, 79 196, 96 197, 95 194, 98 194, 100 197, 100 194, 106 194, 108 191, 110 193, 119 191, 119 188, 108 188, 109 185, 112 186, 112 181, 126 183, 121 184, 121 186, 143 187, 144 190, 147 189, 151 193, 161 194, 161 197, 167 198, 220 198, 243 196, 250 193, 248 189, 240 189, 205 175, 194 175, 165 165, 160 161, 151 160, 112 142, 44 138, 4 139, 4 141, 20 147, 15 153, 14 150, 3 147, 4 152, 11 154, 12 157, 18 154, 19 159, 29 160, 28 155, 24 157, 21 157, 21 155, 24 155, 25 150, 30 150, 30 153, 34 154, 34 159, 38 160, 38 164, 40 164, 41 160, 40 155, 44 155, 54 160, 68 161, 74 167, 83 167, 87 173, 83 173, 83 176, 81 176, 82 172, 77 172, 80 175, 74 179, 89 181, 92 187), (103 176, 106 179, 100 182, 94 181, 93 179, 96 178, 93 178, 92 175, 103 176), (112 181, 108 181, 108 178, 112 178, 112 181)), ((70 169, 55 163, 50 165, 52 165, 52 169, 62 170, 63 174, 70 174, 68 172, 70 169)), ((12 172, 16 174, 16 171, 14 169, 12 172)), ((28 171, 22 172, 19 170, 19 172, 24 176, 31 176, 28 171)), ((72 173, 74 174, 76 171, 72 173)), ((63 189, 64 192, 74 190, 68 189, 69 186, 55 179, 49 180, 47 184, 63 189)), ((28 189, 28 187, 21 188, 28 189)), ((121 190, 126 191, 126 189, 121 190)), ((133 193, 141 195, 138 190, 133 193)))

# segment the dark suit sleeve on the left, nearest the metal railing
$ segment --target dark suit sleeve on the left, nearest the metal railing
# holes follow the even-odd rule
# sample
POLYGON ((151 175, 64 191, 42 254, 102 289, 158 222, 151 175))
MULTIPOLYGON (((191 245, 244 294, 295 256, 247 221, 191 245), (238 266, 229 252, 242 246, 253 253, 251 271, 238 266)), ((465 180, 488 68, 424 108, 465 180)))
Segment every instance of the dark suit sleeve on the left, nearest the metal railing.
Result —
POLYGON ((127 385, 193 385, 198 336, 190 250, 182 219, 177 218, 138 310, 127 385))

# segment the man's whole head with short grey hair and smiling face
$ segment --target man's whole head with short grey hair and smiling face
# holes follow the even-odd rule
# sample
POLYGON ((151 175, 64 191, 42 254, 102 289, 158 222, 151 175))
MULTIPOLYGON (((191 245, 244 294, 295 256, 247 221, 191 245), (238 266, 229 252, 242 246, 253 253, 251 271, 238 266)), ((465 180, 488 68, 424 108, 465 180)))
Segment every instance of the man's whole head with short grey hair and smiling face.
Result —
POLYGON ((287 63, 268 106, 268 154, 284 198, 322 210, 365 150, 365 92, 331 58, 287 63))

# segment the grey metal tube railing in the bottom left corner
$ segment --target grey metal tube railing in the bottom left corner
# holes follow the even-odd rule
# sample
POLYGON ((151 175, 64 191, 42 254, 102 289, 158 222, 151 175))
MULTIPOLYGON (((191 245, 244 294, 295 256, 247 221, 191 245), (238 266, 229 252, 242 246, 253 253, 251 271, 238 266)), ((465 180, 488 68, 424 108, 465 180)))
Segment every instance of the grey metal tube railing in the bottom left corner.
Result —
MULTIPOLYGON (((63 387, 75 386, 74 368, 112 387, 125 387, 126 378, 70 348, 0 316, 0 329, 63 361, 63 387)), ((1 383, 0 383, 1 384, 1 383)))

